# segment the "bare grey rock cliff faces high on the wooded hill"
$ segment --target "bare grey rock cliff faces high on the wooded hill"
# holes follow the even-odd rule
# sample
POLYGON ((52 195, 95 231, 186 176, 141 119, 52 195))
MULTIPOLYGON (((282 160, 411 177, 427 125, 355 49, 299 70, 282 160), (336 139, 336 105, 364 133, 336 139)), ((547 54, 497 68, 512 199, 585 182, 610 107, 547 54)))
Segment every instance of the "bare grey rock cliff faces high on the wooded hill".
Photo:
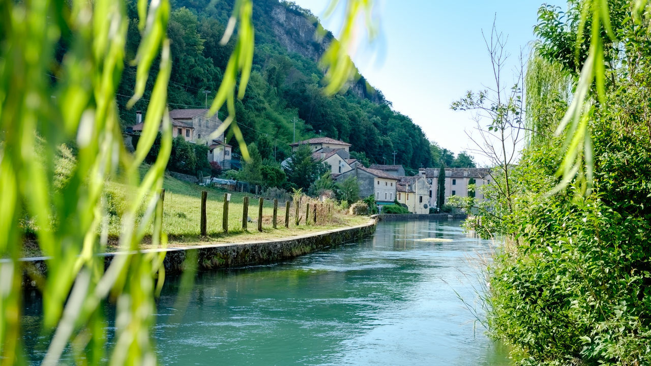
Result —
MULTIPOLYGON (((309 16, 307 12, 301 14, 300 11, 292 10, 278 3, 271 10, 270 16, 271 29, 281 46, 290 52, 296 52, 312 59, 314 62, 318 62, 333 39, 332 33, 327 32, 322 39, 317 40, 318 20, 309 16)), ((374 103, 383 102, 381 95, 367 85, 364 77, 353 81, 349 88, 359 98, 367 98, 374 103)))

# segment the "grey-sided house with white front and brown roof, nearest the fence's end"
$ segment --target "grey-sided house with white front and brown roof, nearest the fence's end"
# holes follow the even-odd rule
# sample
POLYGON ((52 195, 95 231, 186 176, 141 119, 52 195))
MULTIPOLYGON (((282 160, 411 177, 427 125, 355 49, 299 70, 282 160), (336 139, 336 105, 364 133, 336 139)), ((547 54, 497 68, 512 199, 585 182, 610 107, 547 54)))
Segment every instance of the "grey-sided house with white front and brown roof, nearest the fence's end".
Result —
POLYGON ((366 168, 361 164, 355 164, 354 169, 337 175, 335 180, 342 182, 349 176, 357 177, 359 197, 365 198, 373 195, 380 209, 385 204, 393 204, 393 201, 396 199, 396 186, 399 179, 397 176, 389 175, 380 170, 366 168))

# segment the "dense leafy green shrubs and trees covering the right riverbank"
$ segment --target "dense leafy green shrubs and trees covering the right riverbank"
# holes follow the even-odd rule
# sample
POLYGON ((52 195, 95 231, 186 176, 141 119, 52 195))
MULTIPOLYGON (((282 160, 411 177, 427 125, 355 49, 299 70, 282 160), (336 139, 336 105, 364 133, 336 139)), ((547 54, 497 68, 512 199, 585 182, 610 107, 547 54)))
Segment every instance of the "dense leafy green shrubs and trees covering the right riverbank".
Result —
POLYGON ((651 364, 651 38, 628 18, 628 1, 608 3, 626 42, 605 45, 609 68, 597 71, 606 76, 603 98, 589 86, 594 107, 581 117, 588 138, 577 133, 564 145, 553 137, 581 69, 564 57, 574 55, 574 41, 564 40, 577 31, 566 20, 579 19, 583 3, 568 14, 544 7, 527 70, 529 145, 517 166, 493 171, 493 184, 482 188, 489 201, 466 222, 505 238, 488 268, 486 320, 518 365, 651 364), (576 154, 570 163, 579 159, 575 177, 557 187, 568 150, 576 154), (594 186, 585 191, 592 167, 594 186), (555 187, 561 191, 551 194, 555 187))

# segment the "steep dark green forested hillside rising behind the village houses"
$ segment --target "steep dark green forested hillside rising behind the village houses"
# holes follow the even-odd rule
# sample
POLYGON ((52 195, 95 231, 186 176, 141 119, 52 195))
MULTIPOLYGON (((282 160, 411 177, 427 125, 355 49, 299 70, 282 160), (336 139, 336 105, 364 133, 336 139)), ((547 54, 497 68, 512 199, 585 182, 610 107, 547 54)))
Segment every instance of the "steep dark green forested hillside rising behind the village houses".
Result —
MULTIPOLYGON (((232 0, 179 0, 173 2, 169 38, 173 70, 168 98, 171 108, 203 107, 214 98, 233 41, 219 46, 232 0), (208 91, 208 95, 204 94, 208 91)), ((290 153, 288 143, 323 135, 352 144, 352 154, 371 163, 396 163, 411 169, 439 164, 432 157, 430 142, 409 117, 391 110, 363 77, 335 96, 322 92, 324 74, 318 57, 332 39, 314 38, 318 20, 308 10, 277 0, 256 1, 255 56, 251 80, 243 100, 236 103, 236 119, 247 143, 276 148, 275 160, 290 153), (266 137, 261 137, 268 135, 266 137), (266 141, 260 142, 261 139, 266 141)), ((139 42, 135 1, 129 3, 130 23, 127 59, 133 59, 139 42)), ((156 63, 154 63, 156 64, 156 63)), ((135 111, 145 110, 148 94, 131 110, 124 108, 135 83, 135 68, 126 67, 120 85, 123 127, 135 120, 135 111)), ((223 115, 220 114, 221 119, 223 115)), ((231 145, 237 146, 231 139, 231 145)), ((434 147, 438 151, 438 147, 434 147)), ((273 156, 263 156, 273 158, 273 156)))

